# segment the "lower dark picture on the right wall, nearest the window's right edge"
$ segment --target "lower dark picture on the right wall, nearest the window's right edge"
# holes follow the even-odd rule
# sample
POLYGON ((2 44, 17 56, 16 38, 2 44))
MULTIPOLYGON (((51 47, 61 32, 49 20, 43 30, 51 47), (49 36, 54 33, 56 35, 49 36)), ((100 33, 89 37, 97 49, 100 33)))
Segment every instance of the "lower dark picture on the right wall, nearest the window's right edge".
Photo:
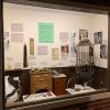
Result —
POLYGON ((108 57, 108 47, 106 44, 100 45, 100 58, 107 58, 108 57))

